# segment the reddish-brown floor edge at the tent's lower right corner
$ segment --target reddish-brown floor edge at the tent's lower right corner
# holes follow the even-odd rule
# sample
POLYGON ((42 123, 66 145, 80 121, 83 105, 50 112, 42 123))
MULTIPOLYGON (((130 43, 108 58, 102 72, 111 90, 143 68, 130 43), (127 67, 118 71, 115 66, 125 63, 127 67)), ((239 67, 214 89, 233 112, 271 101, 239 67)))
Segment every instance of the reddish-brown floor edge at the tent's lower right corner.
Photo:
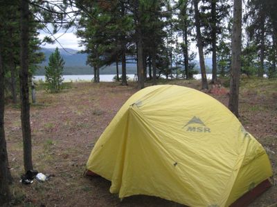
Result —
POLYGON ((233 204, 231 204, 231 207, 249 206, 249 204, 251 204, 254 199, 268 190, 271 186, 272 184, 269 179, 265 179, 260 184, 258 184, 258 186, 245 193, 244 195, 242 195, 242 197, 233 202, 233 204))

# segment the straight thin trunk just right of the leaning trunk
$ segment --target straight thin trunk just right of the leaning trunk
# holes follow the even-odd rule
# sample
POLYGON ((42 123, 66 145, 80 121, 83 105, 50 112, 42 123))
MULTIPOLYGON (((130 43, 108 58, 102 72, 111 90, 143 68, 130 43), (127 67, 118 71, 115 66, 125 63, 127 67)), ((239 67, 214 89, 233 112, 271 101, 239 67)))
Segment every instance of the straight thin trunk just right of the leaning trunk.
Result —
POLYGON ((217 0, 211 1, 211 13, 212 13, 212 50, 213 50, 213 77, 212 77, 212 83, 215 83, 217 81, 217 55, 216 55, 216 3, 217 0))

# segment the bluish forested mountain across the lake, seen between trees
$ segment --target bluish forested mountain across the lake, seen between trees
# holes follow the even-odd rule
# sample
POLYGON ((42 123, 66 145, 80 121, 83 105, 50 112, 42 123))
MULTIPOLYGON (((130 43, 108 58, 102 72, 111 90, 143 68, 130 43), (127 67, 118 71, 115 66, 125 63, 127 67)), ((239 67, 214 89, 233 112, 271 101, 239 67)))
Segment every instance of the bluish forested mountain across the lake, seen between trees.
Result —
MULTIPOLYGON (((93 74, 93 68, 91 66, 87 66, 87 54, 86 53, 78 53, 78 50, 74 50, 71 48, 59 49, 60 55, 64 59, 64 75, 91 75, 93 74), (65 50, 64 50, 65 49, 65 50)), ((35 75, 45 75, 45 66, 48 66, 48 59, 55 51, 55 48, 42 48, 39 52, 44 52, 45 61, 39 64, 39 69, 35 72, 35 75)), ((199 60, 196 61, 196 68, 199 70, 199 60)), ((207 73, 211 73, 212 68, 212 60, 211 58, 205 59, 206 63, 206 71, 207 73)), ((119 66, 119 71, 121 67, 119 66)), ((127 63, 127 74, 136 73, 136 63, 127 63)), ((112 64, 111 66, 102 67, 100 69, 100 75, 111 75, 116 74, 116 64, 112 64)))

